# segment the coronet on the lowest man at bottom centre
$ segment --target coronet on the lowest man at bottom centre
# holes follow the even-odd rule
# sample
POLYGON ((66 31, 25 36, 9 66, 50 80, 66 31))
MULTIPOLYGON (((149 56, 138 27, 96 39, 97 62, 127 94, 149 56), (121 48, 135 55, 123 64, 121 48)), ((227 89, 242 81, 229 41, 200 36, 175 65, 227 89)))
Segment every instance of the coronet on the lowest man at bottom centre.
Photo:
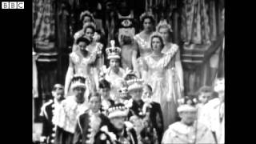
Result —
POLYGON ((128 114, 128 108, 122 103, 114 104, 114 106, 110 106, 108 111, 108 118, 114 117, 126 117, 128 114))

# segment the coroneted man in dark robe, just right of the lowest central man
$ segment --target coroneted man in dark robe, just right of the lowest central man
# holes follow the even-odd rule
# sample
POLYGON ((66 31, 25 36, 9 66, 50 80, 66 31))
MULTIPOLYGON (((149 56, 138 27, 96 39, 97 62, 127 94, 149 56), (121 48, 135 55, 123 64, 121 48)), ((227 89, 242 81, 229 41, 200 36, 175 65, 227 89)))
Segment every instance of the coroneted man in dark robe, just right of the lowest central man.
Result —
MULTIPOLYGON (((156 144, 158 143, 157 130, 153 125, 154 118, 152 117, 150 110, 148 112, 143 111, 146 104, 142 101, 143 81, 140 78, 131 78, 127 80, 128 93, 132 96, 133 102, 130 107, 130 113, 128 115, 130 122, 134 124, 138 136, 138 142, 143 144, 156 144), (151 116, 151 117, 150 117, 151 116)), ((156 109, 158 110, 158 109, 156 109)), ((161 110, 161 109, 160 109, 161 110)))

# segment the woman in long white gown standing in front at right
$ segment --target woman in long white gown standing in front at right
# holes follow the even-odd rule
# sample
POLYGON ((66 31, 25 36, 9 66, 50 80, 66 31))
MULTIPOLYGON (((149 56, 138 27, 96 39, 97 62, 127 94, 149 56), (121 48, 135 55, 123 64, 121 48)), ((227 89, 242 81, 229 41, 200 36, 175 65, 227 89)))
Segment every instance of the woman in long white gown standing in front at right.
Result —
POLYGON ((150 43, 152 47, 152 54, 145 58, 140 58, 140 66, 142 66, 142 73, 145 77, 144 81, 152 86, 154 102, 161 103, 161 109, 164 120, 164 130, 170 123, 176 121, 176 105, 174 104, 174 97, 170 95, 172 84, 169 82, 169 65, 170 62, 175 61, 175 55, 178 53, 178 46, 172 46, 166 54, 162 54, 164 48, 163 38, 159 33, 151 35, 150 43))

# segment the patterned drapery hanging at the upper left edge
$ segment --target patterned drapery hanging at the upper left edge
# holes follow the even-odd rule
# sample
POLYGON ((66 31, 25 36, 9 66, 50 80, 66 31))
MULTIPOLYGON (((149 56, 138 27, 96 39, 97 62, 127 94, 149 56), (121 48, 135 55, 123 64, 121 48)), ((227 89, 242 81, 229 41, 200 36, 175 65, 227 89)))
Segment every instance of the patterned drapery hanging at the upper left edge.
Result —
POLYGON ((54 51, 54 0, 33 0, 33 41, 36 52, 54 51))

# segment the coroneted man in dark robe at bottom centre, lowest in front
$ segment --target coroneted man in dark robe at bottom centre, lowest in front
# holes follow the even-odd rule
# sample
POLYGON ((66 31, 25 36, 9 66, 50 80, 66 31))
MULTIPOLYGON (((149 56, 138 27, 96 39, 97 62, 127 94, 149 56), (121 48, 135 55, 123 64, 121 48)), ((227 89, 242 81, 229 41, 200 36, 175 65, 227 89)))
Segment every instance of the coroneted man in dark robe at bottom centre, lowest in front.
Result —
POLYGON ((115 143, 115 144, 138 144, 138 139, 133 125, 126 122, 128 109, 122 103, 111 106, 108 110, 110 126, 102 126, 96 134, 96 144, 115 143))

